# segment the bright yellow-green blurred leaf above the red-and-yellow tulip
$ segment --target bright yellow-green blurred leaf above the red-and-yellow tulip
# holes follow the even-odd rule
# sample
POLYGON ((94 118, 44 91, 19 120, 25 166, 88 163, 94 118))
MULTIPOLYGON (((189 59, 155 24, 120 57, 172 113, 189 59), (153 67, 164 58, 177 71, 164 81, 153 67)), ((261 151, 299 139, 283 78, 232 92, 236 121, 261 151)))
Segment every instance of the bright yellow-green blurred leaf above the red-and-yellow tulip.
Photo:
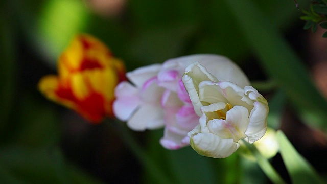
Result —
POLYGON ((38 18, 38 37, 35 37, 39 43, 38 49, 48 57, 52 66, 56 66, 56 58, 72 37, 85 29, 88 22, 87 8, 82 1, 50 0, 38 18))

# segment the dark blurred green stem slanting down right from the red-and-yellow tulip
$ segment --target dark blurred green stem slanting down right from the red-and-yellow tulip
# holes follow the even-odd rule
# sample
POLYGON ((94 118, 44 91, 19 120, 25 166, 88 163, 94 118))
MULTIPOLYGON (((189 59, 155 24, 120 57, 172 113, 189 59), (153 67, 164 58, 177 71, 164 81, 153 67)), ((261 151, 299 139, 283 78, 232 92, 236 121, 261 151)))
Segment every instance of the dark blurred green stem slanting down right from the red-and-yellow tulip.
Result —
MULTIPOLYGON (((113 122, 106 123, 111 125, 113 122)), ((135 140, 135 137, 133 137, 131 131, 126 127, 125 123, 114 121, 114 125, 114 128, 119 132, 121 139, 133 152, 143 167, 151 174, 151 176, 154 177, 158 183, 172 183, 168 179, 167 175, 156 165, 151 156, 149 156, 141 145, 139 145, 139 143, 135 140)))

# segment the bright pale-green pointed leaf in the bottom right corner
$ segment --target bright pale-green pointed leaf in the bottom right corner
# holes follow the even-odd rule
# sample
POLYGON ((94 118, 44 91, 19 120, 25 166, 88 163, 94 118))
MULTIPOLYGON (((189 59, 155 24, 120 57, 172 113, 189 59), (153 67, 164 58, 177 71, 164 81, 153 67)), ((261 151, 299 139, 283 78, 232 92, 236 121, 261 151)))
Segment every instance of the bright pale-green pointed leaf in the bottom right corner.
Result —
POLYGON ((323 183, 315 169, 293 147, 282 131, 277 131, 277 141, 292 183, 323 183))

